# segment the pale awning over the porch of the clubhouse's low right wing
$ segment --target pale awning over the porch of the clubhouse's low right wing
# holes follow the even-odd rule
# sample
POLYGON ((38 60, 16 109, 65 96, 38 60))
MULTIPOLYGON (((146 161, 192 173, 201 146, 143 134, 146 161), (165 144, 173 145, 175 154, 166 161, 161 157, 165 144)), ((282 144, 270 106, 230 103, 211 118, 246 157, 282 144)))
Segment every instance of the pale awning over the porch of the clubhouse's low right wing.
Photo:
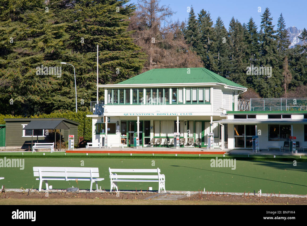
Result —
POLYGON ((307 119, 222 119, 220 121, 213 121, 216 123, 229 123, 229 124, 258 124, 258 123, 307 123, 307 119))

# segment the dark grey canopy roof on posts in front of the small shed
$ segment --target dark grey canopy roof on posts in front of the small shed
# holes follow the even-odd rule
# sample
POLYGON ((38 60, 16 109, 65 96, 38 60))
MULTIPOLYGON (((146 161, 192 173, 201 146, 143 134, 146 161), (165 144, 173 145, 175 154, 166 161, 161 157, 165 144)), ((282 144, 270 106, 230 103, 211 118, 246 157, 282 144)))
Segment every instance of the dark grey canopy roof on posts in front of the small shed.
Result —
POLYGON ((30 121, 23 129, 70 129, 62 120, 30 121))

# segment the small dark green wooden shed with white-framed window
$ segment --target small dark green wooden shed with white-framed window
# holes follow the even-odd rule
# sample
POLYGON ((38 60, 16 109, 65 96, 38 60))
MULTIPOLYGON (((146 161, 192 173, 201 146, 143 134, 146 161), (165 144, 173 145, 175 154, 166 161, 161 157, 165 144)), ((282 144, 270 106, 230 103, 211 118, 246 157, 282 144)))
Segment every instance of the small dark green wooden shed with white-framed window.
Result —
POLYGON ((6 148, 28 149, 29 143, 32 143, 32 137, 33 141, 48 143, 51 137, 45 133, 46 129, 61 129, 64 142, 68 141, 68 135, 74 135, 75 145, 78 144, 80 123, 76 121, 66 118, 6 118, 4 121, 6 122, 6 148))

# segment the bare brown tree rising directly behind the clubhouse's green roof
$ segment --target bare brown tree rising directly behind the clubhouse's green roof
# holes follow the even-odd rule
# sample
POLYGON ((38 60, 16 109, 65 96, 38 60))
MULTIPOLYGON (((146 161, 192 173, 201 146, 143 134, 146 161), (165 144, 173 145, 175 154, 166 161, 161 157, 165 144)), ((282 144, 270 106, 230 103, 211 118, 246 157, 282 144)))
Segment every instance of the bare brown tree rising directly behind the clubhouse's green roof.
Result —
POLYGON ((174 12, 159 6, 160 0, 139 0, 130 18, 132 37, 148 55, 143 71, 153 68, 202 67, 200 57, 189 50, 182 34, 184 23, 172 22, 174 12))

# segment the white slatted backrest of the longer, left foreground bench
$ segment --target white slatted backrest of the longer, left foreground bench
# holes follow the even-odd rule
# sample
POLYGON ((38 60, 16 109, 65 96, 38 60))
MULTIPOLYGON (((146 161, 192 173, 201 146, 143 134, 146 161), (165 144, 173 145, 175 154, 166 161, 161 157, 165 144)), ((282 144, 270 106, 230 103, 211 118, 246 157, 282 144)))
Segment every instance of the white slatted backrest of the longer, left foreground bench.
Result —
POLYGON ((98 168, 90 167, 33 167, 34 176, 41 177, 99 177, 98 168))

